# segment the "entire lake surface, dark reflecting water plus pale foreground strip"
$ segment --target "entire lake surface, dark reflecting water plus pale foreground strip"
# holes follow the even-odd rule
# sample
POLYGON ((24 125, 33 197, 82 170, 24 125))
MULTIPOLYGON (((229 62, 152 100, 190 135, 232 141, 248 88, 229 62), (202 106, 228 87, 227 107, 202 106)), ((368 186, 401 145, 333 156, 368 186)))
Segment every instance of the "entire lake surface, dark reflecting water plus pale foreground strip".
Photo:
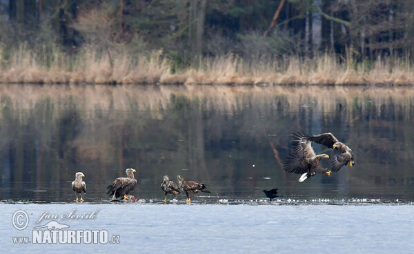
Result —
POLYGON ((411 88, 1 85, 1 246, 8 253, 411 253, 413 126, 411 88), (296 131, 333 133, 353 149, 355 166, 297 182, 281 166, 296 131), (137 170, 137 202, 110 203, 106 186, 126 168, 137 170), (84 204, 74 204, 70 188, 78 171, 86 175, 84 204), (163 175, 204 182, 211 193, 164 204, 163 175), (279 188, 271 203, 262 193, 269 188, 279 188), (108 230, 121 244, 12 243, 30 236, 42 212, 74 208, 99 213, 57 221, 108 230), (30 217, 23 231, 12 226, 19 209, 30 217))

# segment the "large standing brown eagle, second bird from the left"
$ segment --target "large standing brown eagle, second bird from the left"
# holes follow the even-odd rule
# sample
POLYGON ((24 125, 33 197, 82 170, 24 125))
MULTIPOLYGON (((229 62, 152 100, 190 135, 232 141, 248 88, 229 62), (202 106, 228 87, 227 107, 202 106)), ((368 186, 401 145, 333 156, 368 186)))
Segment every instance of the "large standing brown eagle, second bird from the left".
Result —
POLYGON ((134 172, 136 171, 134 168, 127 168, 125 170, 126 177, 118 177, 107 187, 108 192, 106 195, 112 195, 111 201, 119 201, 119 197, 121 199, 129 198, 128 193, 137 186, 137 179, 134 176, 134 172))

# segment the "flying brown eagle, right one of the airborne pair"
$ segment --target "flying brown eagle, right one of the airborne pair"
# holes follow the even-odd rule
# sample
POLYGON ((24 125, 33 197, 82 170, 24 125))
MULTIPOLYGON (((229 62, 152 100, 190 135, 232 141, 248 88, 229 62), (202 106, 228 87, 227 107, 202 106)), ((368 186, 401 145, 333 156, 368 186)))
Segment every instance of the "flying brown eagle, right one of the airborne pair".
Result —
POLYGON ((348 163, 351 168, 353 165, 355 165, 353 151, 351 150, 351 148, 339 141, 332 133, 322 133, 319 135, 307 135, 297 133, 297 135, 301 136, 304 139, 314 141, 317 144, 322 144, 328 148, 333 148, 341 152, 340 155, 335 155, 332 159, 333 166, 331 170, 333 172, 339 171, 339 169, 341 169, 342 166, 345 166, 348 163))

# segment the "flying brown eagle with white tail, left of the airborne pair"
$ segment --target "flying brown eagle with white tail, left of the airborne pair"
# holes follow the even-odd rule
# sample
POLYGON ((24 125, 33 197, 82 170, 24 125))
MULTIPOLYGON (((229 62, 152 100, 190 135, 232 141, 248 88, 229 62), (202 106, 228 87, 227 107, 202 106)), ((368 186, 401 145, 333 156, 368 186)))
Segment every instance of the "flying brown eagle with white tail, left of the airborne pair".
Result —
POLYGON ((283 168, 286 172, 302 174, 299 182, 304 182, 308 177, 313 177, 316 174, 331 174, 331 171, 319 166, 320 160, 329 158, 328 155, 316 155, 310 140, 297 135, 297 133, 293 133, 292 136, 294 138, 292 141, 294 153, 289 153, 286 158, 283 168))

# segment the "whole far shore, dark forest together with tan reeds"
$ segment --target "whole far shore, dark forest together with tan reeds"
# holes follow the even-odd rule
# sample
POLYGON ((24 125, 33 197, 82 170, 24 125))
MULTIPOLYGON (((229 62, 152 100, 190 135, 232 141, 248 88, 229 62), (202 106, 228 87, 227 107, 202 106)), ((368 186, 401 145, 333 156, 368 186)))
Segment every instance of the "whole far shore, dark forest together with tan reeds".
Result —
POLYGON ((0 0, 0 82, 412 85, 413 7, 0 0))

